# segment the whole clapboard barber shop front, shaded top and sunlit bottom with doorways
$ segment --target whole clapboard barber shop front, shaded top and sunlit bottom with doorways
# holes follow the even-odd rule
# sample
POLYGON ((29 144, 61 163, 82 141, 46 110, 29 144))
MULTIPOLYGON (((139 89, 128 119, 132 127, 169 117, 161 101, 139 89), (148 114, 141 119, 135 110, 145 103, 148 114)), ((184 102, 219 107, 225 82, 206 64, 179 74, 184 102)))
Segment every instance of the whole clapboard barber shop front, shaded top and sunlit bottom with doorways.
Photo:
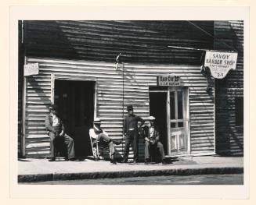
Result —
MULTIPOLYGON (((95 116, 110 137, 123 140, 128 104, 142 118, 157 117, 166 155, 215 154, 215 81, 200 71, 202 52, 167 48, 213 49, 195 23, 214 34, 211 21, 25 21, 26 63, 38 63, 39 74, 24 78, 22 155, 49 154, 44 120, 51 102, 61 107, 77 155, 90 154, 86 130, 95 116), (157 76, 180 83, 157 86, 157 76)), ((117 147, 120 155, 123 149, 117 147)))

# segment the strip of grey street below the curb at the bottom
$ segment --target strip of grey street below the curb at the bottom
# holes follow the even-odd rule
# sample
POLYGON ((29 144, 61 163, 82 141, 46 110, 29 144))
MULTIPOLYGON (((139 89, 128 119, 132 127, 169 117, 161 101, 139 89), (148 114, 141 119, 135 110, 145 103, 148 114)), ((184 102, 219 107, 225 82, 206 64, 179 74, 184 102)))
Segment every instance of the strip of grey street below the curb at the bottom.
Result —
POLYGON ((243 174, 164 175, 27 182, 38 185, 243 185, 243 174))

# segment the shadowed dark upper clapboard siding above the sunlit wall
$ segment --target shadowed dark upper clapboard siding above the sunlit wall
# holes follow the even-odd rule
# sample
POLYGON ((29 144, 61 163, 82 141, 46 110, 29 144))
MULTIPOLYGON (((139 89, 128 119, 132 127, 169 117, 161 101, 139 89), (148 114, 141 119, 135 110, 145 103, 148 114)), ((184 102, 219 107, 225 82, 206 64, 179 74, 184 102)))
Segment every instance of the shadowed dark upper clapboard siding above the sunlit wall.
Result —
MULTIPOLYGON (((213 21, 193 21, 213 34, 213 21)), ((168 45, 211 49, 213 38, 188 21, 25 21, 28 56, 114 62, 200 65, 200 51, 168 45)))

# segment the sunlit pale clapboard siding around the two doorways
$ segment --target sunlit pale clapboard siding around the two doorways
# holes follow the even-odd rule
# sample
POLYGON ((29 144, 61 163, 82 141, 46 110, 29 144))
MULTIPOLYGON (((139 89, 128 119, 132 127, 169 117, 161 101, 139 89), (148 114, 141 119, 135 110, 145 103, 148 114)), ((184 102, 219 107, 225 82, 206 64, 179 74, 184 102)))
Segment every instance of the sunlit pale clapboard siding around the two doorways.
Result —
MULTIPOLYGON (((80 77, 97 82, 97 116, 110 137, 122 139, 123 87, 122 64, 27 58, 28 63, 39 62, 38 76, 27 77, 26 93, 26 155, 44 157, 49 153, 49 137, 45 132, 45 115, 51 101, 51 74, 56 77, 80 77)), ((157 75, 173 73, 182 77, 189 87, 189 117, 191 153, 215 151, 214 96, 207 93, 207 80, 200 66, 124 64, 124 114, 126 105, 133 104, 135 114, 149 116, 149 86, 156 86, 157 75)), ((122 154, 124 144, 117 147, 122 154)), ((132 156, 132 153, 131 155, 132 156)), ((139 140, 139 157, 144 157, 143 140, 139 140)))

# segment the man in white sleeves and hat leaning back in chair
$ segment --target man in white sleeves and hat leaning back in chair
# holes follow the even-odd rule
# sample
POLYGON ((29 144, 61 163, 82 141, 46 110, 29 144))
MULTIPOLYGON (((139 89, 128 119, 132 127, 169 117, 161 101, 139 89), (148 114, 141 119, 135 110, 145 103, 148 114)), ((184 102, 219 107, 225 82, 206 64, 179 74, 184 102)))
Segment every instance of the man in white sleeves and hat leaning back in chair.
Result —
POLYGON ((111 140, 110 137, 107 135, 107 133, 100 128, 101 121, 100 118, 96 118, 93 122, 93 128, 89 130, 89 135, 95 139, 93 143, 97 142, 106 142, 110 148, 110 162, 112 164, 117 164, 117 162, 114 160, 114 154, 115 154, 115 148, 114 144, 121 144, 121 141, 115 141, 111 140))

